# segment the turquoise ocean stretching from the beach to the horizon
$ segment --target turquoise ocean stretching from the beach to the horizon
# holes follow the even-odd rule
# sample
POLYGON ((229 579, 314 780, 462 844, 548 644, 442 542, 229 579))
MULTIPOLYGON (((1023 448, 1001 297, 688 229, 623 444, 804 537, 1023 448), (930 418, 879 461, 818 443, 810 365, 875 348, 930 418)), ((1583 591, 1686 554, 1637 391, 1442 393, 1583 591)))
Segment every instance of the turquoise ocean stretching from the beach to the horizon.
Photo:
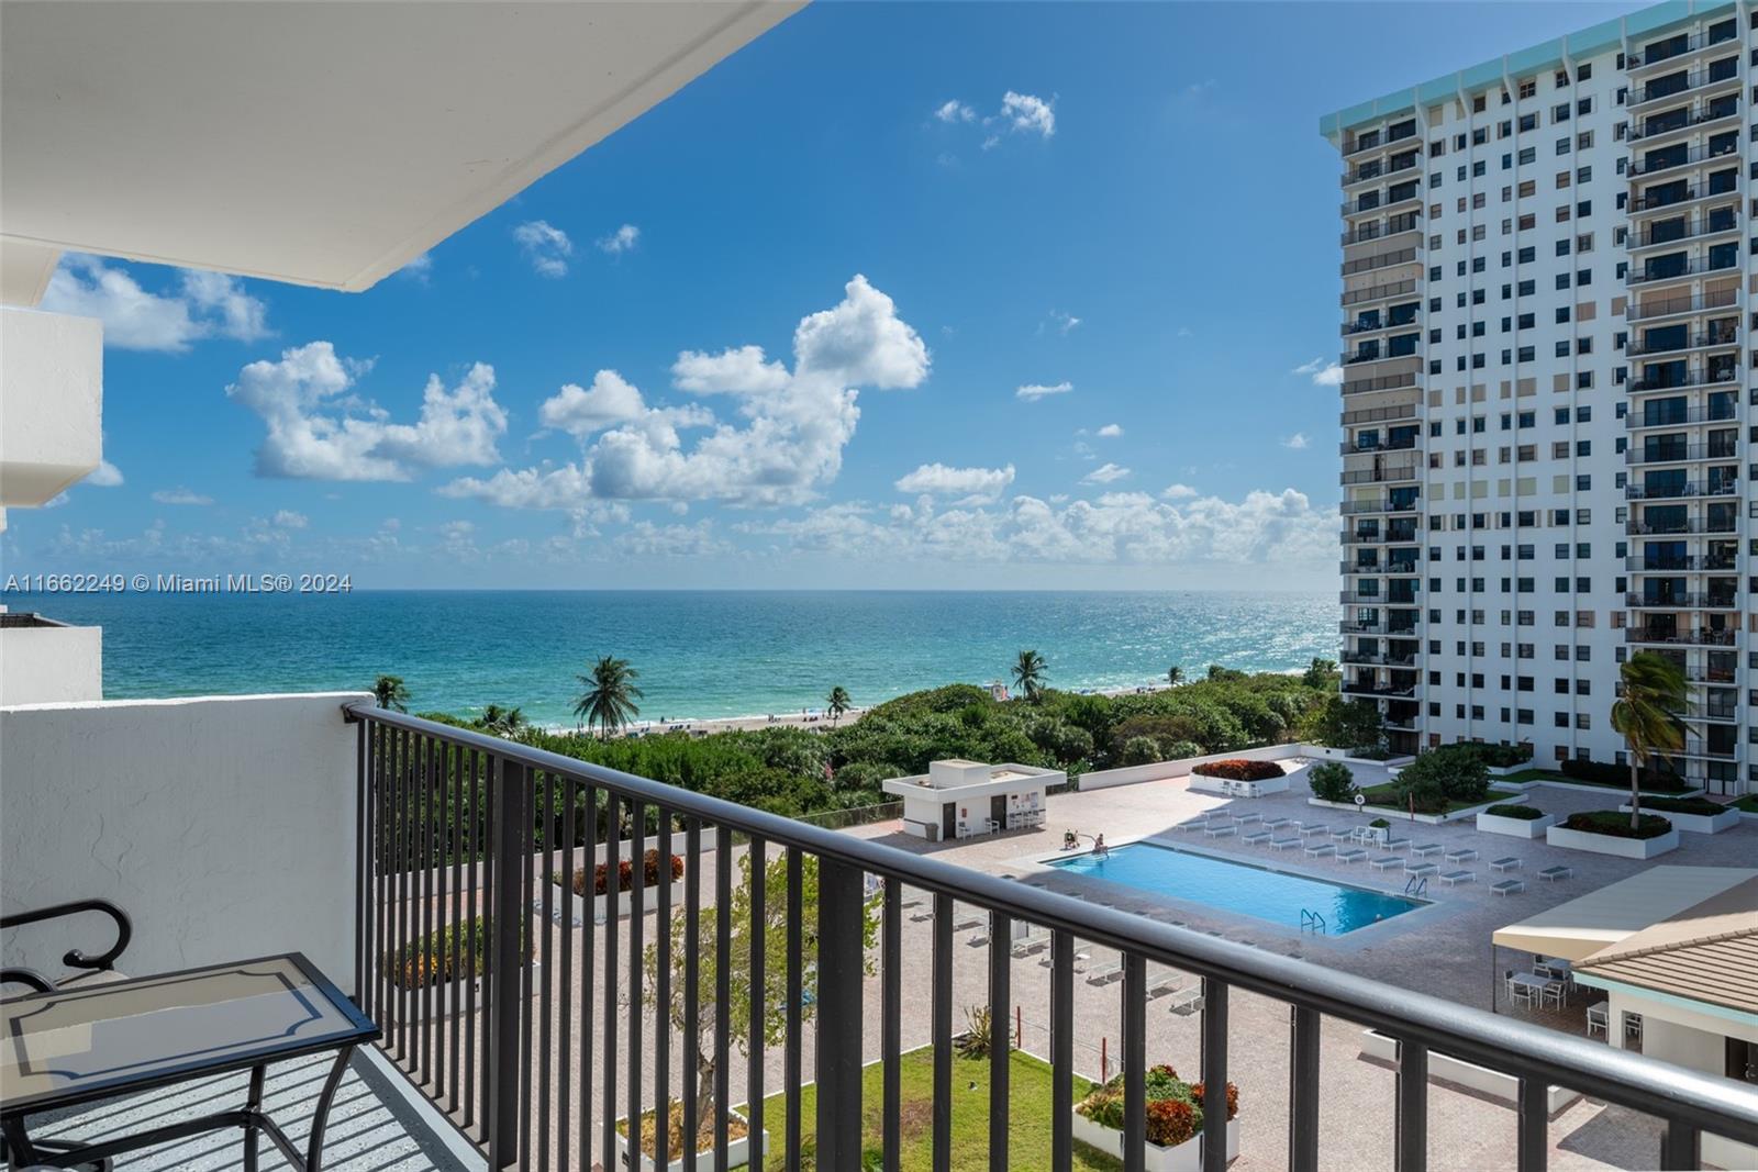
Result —
POLYGON ((598 655, 642 673, 642 717, 867 706, 988 684, 1020 648, 1065 689, 1132 687, 1169 664, 1246 671, 1336 657, 1334 594, 357 590, 332 596, 0 596, 104 627, 104 692, 206 696, 371 687, 401 675, 411 710, 519 705, 573 724, 575 675, 598 655))

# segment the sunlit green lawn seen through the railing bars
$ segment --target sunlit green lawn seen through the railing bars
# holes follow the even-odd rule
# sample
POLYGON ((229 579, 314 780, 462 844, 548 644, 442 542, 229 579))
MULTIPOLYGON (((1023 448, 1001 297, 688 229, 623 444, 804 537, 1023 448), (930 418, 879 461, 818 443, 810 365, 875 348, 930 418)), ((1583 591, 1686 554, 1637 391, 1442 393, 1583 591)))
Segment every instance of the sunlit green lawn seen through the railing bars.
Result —
MULTIPOLYGON (((953 1056, 953 1172, 988 1172, 988 1060, 953 1056)), ((933 1051, 919 1049, 898 1060, 902 1082, 902 1167, 926 1168, 933 1154, 933 1051)), ((1011 1147, 1007 1165, 1014 1168, 1050 1167, 1050 1063, 1013 1053, 1011 1088, 1011 1147)), ((865 1118, 865 1146, 879 1147, 883 1070, 877 1063, 863 1072, 861 1112, 865 1118)), ((1074 1075, 1074 1102, 1081 1102, 1092 1082, 1074 1075)), ((800 1119, 807 1142, 812 1133, 812 1112, 817 1109, 817 1088, 800 1088, 800 1119)), ((770 1133, 775 1154, 765 1165, 784 1165, 782 1128, 788 1119, 782 1095, 763 1100, 763 1126, 770 1133)), ((877 1165, 875 1165, 877 1167, 877 1165)), ((1113 1172, 1122 1161, 1086 1144, 1074 1144, 1076 1172, 1113 1172)))

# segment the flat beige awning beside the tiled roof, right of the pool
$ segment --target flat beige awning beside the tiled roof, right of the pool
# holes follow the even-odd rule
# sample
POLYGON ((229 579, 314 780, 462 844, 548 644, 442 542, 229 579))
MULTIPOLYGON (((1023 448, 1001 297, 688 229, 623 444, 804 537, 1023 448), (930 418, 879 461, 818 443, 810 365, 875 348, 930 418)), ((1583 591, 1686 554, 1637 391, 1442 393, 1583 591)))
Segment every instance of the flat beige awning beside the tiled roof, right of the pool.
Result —
POLYGON ((1498 928, 1494 942, 1580 961, 1753 877, 1758 870, 1746 866, 1654 866, 1498 928))

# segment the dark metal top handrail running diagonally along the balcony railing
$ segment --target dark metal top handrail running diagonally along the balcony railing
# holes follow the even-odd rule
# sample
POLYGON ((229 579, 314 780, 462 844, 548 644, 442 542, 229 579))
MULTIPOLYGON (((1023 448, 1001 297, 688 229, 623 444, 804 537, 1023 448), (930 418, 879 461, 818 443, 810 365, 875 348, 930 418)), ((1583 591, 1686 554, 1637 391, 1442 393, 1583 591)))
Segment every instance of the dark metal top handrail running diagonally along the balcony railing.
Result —
POLYGON ((517 742, 424 720, 367 701, 343 705, 350 720, 373 720, 457 747, 476 749, 499 761, 571 777, 619 798, 650 803, 668 814, 724 826, 772 845, 798 847, 821 859, 858 866, 937 894, 1025 919, 1039 928, 1065 931, 1120 954, 1173 965, 1224 980, 1252 993, 1290 1002, 1343 1021, 1385 1030, 1412 1044, 1484 1063, 1491 1068, 1544 1079, 1616 1102, 1644 1114, 1758 1144, 1758 1088, 1728 1079, 1656 1065, 1621 1049, 1544 1030, 1529 1023, 1401 989, 1373 979, 1333 972, 1268 949, 1210 937, 1187 928, 1088 903, 999 875, 988 875, 879 842, 842 835, 779 814, 665 785, 645 777, 564 757, 517 742))

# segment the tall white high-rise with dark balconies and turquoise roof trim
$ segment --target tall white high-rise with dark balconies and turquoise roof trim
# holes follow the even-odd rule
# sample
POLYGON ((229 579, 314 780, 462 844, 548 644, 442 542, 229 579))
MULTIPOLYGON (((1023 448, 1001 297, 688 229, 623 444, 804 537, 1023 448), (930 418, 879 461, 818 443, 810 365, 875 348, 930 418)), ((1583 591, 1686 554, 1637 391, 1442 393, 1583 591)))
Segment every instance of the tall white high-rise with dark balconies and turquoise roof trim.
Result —
POLYGON ((1398 749, 1675 761, 1758 792, 1758 11, 1674 2, 1329 114, 1343 691, 1398 749))

